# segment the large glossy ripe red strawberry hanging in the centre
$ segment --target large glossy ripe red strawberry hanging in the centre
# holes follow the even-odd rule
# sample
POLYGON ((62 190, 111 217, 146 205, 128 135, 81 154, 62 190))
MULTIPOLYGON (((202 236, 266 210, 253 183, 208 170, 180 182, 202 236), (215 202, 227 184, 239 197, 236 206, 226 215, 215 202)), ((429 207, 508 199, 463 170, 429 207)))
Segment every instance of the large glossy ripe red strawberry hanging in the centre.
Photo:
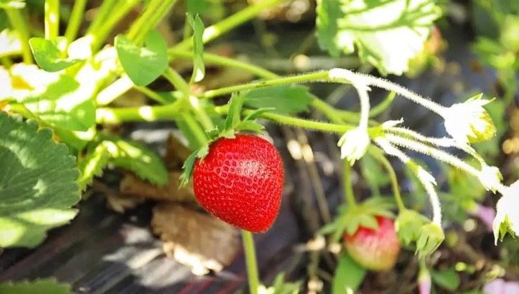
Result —
POLYGON ((215 217, 244 230, 264 232, 280 210, 280 154, 257 136, 219 138, 194 164, 193 187, 200 205, 215 217))

